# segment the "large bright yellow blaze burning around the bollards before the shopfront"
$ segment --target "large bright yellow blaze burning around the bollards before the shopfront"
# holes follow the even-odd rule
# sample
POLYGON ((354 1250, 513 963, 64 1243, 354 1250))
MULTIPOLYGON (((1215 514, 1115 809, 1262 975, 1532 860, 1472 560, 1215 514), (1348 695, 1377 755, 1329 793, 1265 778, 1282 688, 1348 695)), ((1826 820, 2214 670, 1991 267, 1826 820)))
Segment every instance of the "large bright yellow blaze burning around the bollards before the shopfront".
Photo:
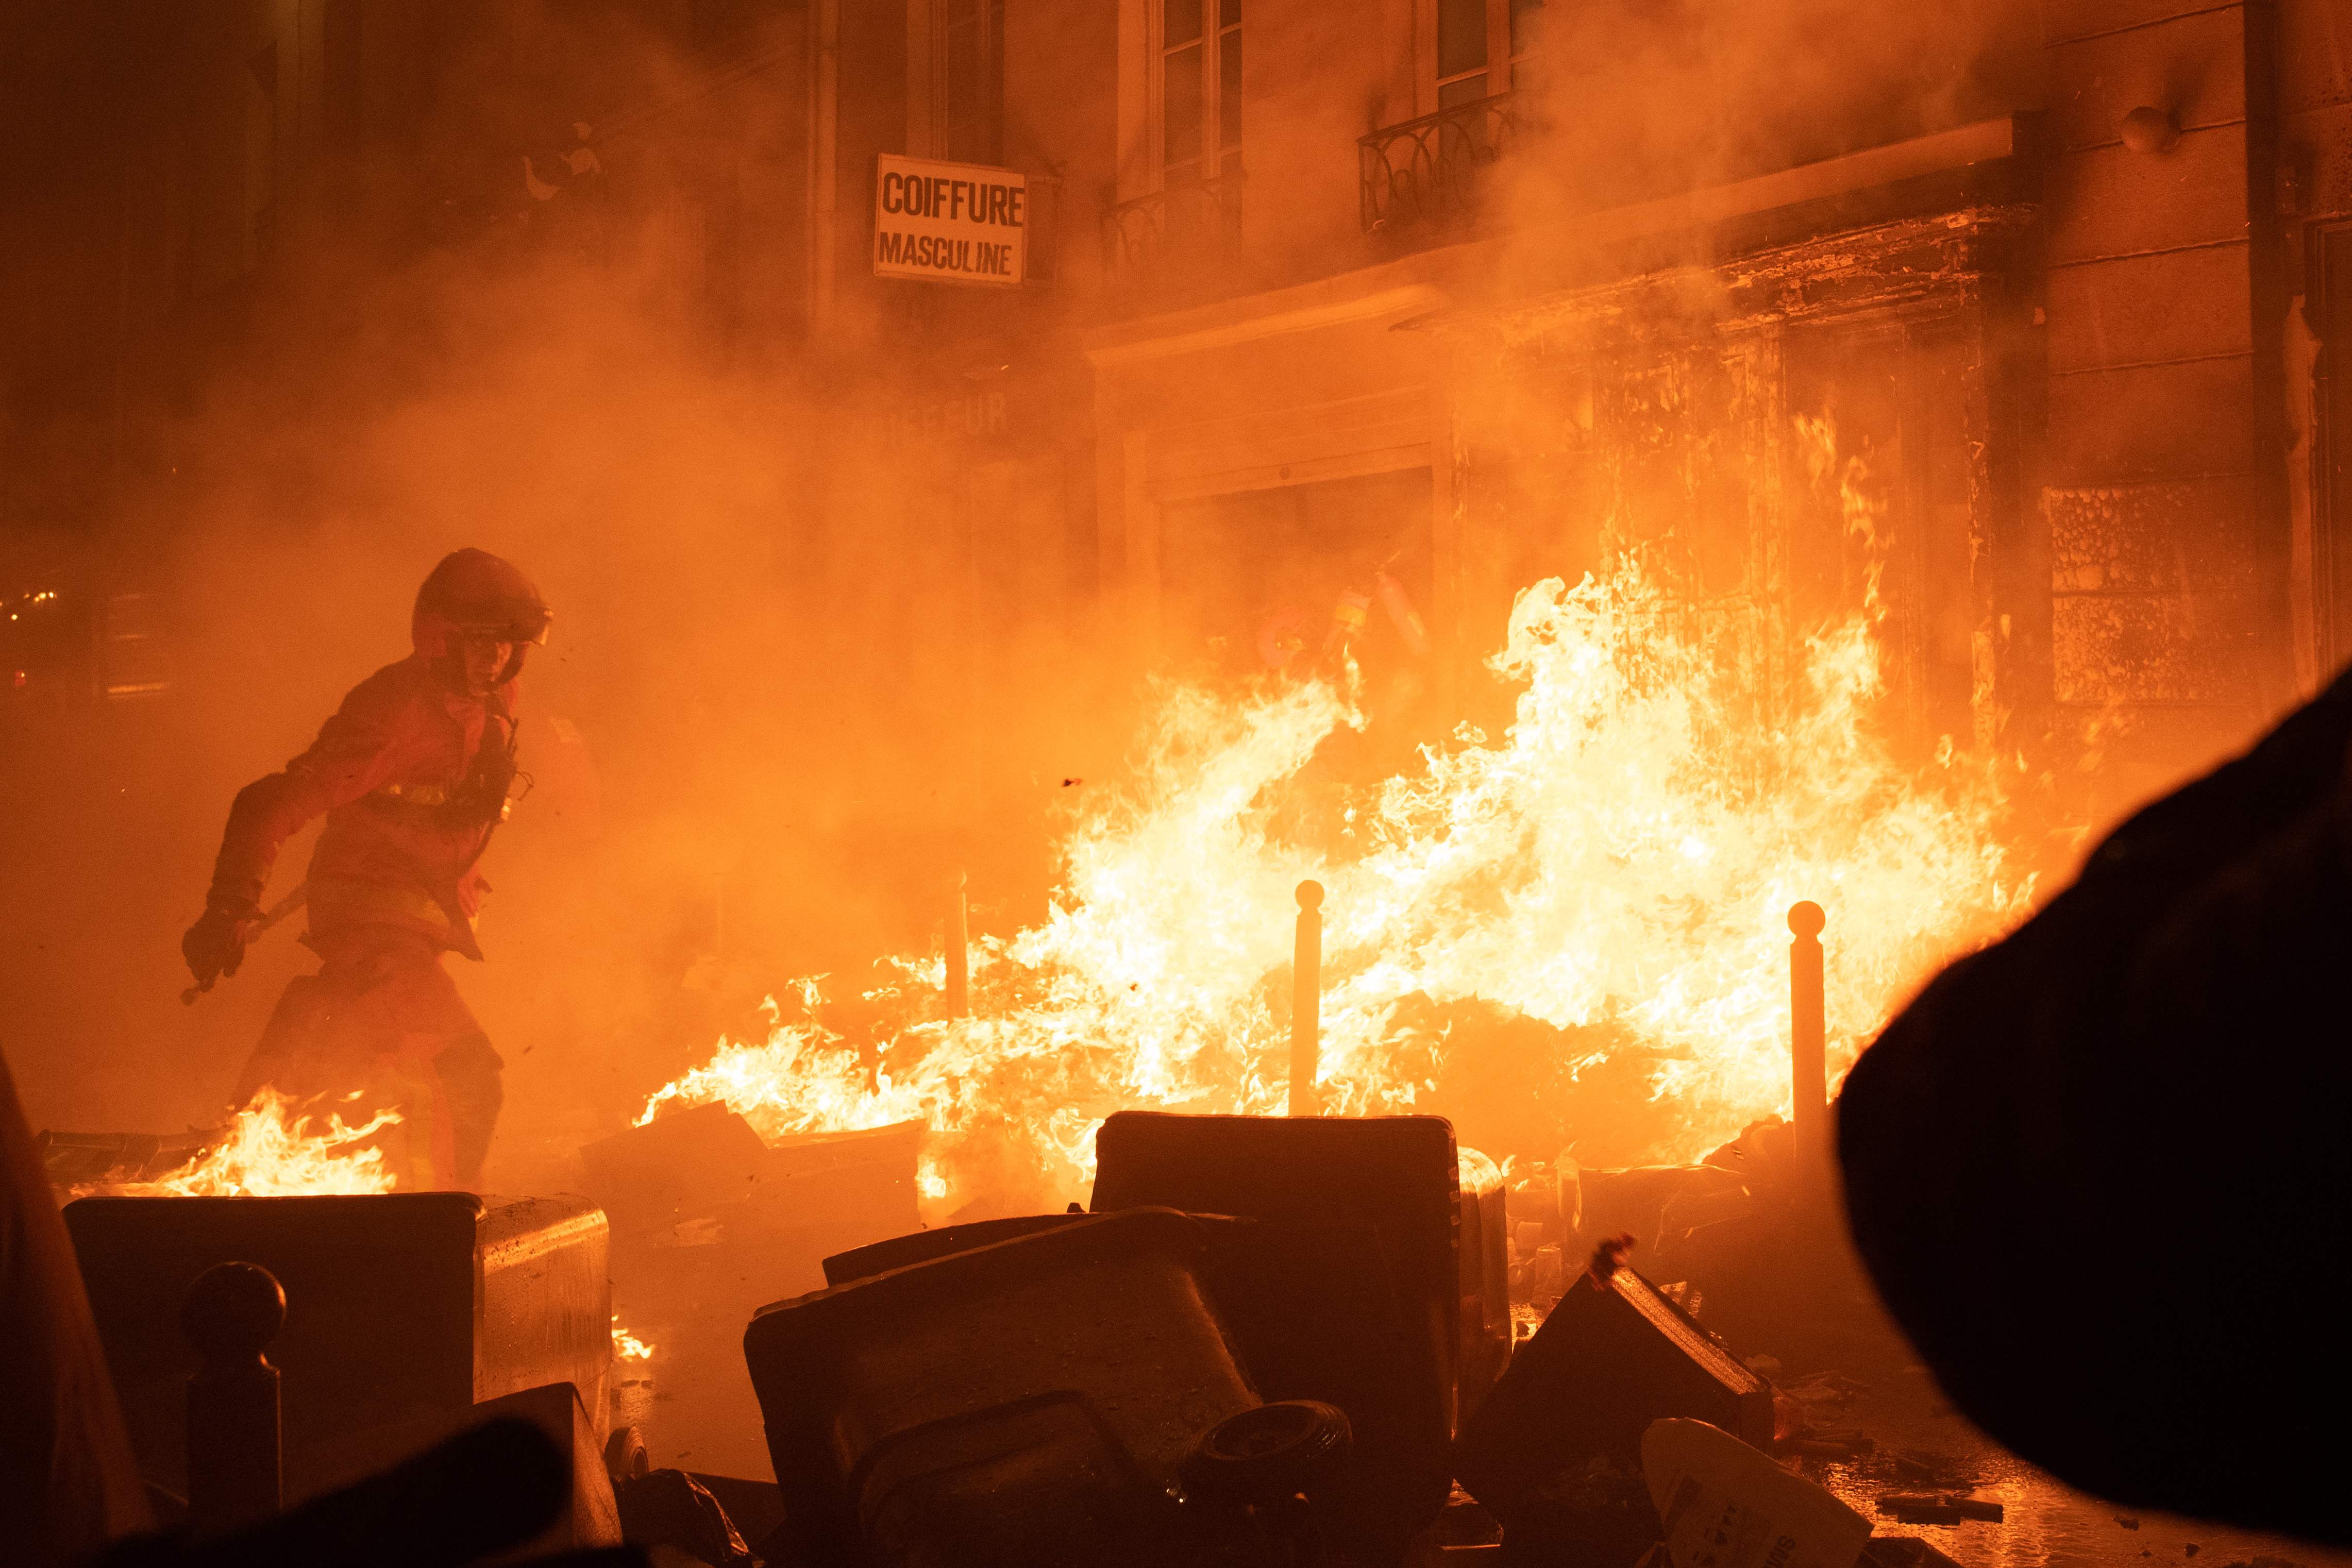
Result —
MULTIPOLYGON (((1867 473, 1832 461, 1828 421, 1799 435, 1875 555, 1867 473)), ((1065 837, 1044 924, 974 943, 969 1018, 924 1016, 938 957, 887 964, 894 980, 868 992, 896 1009, 880 1044, 823 1027, 809 980, 793 1018, 771 999, 764 1041, 722 1039, 640 1124, 706 1100, 769 1138, 920 1117, 936 1133, 927 1201, 1007 1171, 1068 1194, 1112 1110, 1284 1110, 1294 886, 1312 877, 1327 1114, 1414 1110, 1446 1041, 1399 1048, 1399 1009, 1482 999, 1559 1030, 1571 1077, 1639 1060, 1646 1157, 1691 1159, 1790 1107, 1792 903, 1830 912, 1835 1081, 2030 893, 1999 844, 2004 771, 1950 743, 1915 769, 1879 738, 1875 569, 1863 597, 1759 696, 1771 684, 1738 635, 1639 559, 1536 583, 1491 658, 1519 686, 1510 729, 1463 729, 1319 837, 1282 823, 1322 741, 1362 726, 1350 689, 1162 686, 1134 780, 1065 837)))

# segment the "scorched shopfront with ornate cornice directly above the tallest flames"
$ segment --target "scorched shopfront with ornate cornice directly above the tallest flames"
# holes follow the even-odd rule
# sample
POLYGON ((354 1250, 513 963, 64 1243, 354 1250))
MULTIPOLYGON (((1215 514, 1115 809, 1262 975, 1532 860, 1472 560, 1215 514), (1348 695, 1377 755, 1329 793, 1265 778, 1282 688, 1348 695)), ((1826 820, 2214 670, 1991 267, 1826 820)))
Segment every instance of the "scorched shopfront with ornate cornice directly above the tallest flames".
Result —
POLYGON ((1748 675, 1759 722, 1802 708, 1809 649, 1863 614, 1882 738, 1907 759, 1997 750, 2049 701, 2020 324, 1994 287, 2018 219, 1889 223, 1442 322, 1468 642, 1526 583, 1632 559, 1675 632, 1748 675))

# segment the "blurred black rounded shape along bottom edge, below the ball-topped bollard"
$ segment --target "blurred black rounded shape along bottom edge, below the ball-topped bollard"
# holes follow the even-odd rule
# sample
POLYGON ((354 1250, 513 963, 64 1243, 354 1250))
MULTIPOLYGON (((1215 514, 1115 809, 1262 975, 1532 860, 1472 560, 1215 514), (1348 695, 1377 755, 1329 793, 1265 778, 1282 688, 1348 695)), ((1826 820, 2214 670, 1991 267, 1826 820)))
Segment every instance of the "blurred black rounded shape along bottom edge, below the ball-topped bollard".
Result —
POLYGON ((562 1450, 536 1425, 506 1418, 228 1535, 115 1542, 94 1568, 463 1568, 543 1533, 569 1495, 562 1450))

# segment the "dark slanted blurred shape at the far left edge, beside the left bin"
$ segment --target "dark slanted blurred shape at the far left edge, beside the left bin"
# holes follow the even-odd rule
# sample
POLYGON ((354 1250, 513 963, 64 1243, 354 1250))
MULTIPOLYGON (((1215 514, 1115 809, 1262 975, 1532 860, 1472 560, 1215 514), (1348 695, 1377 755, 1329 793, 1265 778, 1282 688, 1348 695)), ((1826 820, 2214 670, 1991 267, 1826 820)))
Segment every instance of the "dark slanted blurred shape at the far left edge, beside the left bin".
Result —
POLYGON ((0 1519, 31 1568, 153 1523, 73 1246, 0 1058, 0 1519))

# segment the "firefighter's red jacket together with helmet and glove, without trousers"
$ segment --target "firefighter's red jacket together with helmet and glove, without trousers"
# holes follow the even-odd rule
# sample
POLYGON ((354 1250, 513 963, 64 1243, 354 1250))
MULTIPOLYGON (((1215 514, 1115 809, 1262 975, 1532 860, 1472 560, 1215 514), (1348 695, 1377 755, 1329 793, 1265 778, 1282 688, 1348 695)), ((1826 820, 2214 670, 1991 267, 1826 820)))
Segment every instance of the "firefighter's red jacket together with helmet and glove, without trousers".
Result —
POLYGON ((515 677, 527 642, 487 698, 468 696, 449 578, 459 588, 513 578, 510 588, 539 597, 494 555, 461 550, 442 562, 416 599, 414 651, 353 686, 282 773, 238 792, 212 872, 214 905, 259 905, 278 851, 325 813, 310 853, 313 945, 353 926, 393 926, 482 957, 473 938, 487 891, 477 863, 515 778, 515 677))

